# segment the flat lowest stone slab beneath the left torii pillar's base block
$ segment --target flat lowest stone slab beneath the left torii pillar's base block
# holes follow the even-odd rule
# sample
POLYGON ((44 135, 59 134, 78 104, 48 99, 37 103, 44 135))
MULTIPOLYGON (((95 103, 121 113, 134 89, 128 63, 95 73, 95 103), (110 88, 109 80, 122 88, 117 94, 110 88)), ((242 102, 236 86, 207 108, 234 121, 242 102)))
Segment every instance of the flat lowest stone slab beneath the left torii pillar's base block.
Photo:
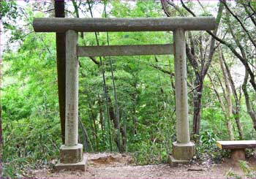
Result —
POLYGON ((59 170, 80 170, 85 172, 86 168, 88 167, 87 159, 83 159, 82 161, 75 163, 75 164, 62 164, 59 162, 55 166, 55 171, 59 170))

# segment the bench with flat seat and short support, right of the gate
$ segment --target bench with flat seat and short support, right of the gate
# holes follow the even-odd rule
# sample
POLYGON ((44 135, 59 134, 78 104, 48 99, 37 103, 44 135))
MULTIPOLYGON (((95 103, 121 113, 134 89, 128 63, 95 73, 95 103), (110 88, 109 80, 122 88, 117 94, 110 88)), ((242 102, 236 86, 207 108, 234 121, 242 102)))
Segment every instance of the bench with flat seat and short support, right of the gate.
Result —
POLYGON ((233 161, 245 160, 246 148, 256 148, 256 140, 227 140, 217 141, 220 149, 230 149, 233 161))

